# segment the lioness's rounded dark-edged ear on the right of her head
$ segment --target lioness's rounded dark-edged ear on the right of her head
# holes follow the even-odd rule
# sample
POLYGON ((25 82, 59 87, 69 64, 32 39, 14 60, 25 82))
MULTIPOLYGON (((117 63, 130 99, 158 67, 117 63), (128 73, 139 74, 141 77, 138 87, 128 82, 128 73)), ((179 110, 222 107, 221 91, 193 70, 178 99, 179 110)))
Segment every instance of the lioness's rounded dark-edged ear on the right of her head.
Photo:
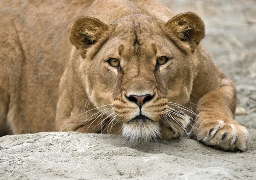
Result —
POLYGON ((203 20, 193 12, 185 12, 170 19, 166 27, 176 39, 189 43, 192 51, 204 38, 203 20))

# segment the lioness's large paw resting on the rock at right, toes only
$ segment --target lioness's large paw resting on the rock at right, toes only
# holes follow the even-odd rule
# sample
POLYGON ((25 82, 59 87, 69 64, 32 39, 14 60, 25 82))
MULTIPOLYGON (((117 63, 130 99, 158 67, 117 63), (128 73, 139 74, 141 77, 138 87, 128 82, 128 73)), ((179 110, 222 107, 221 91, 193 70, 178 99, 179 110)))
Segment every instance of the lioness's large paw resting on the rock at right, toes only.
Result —
POLYGON ((224 151, 245 151, 247 149, 249 133, 238 123, 217 121, 204 122, 201 126, 190 131, 190 137, 200 142, 224 151))

